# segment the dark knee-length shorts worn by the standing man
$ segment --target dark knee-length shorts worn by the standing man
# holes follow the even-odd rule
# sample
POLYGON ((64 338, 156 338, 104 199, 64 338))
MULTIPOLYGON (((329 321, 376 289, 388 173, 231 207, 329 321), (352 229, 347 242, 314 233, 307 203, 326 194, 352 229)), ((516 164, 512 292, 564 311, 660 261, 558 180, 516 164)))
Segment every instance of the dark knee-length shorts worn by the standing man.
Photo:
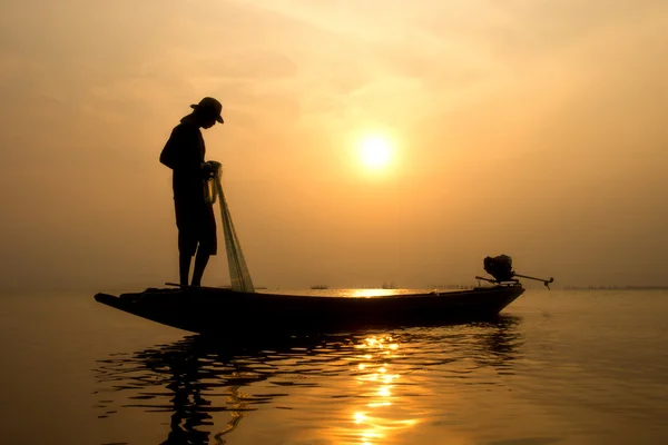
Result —
POLYGON ((175 199, 176 227, 178 227, 178 251, 193 256, 199 251, 216 255, 216 218, 214 207, 203 201, 193 202, 175 199))

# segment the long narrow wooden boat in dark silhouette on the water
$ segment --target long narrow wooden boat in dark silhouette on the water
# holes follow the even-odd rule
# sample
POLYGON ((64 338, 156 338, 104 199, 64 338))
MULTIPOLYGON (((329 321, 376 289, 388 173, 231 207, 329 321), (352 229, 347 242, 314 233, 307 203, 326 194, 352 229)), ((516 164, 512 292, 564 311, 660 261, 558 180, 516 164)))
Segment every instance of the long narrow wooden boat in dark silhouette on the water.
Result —
POLYGON ((518 298, 519 283, 446 293, 373 297, 240 293, 190 287, 112 296, 107 306, 176 328, 207 335, 335 333, 357 328, 471 322, 495 316, 518 298))

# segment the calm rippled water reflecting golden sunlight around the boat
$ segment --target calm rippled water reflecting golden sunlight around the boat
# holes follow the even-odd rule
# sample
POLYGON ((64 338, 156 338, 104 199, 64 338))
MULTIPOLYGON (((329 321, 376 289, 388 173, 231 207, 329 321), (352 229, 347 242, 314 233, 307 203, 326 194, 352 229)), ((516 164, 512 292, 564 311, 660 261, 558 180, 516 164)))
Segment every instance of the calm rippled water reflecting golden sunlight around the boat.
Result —
POLYGON ((229 345, 4 295, 0 442, 662 444, 667 299, 528 290, 494 323, 229 345))

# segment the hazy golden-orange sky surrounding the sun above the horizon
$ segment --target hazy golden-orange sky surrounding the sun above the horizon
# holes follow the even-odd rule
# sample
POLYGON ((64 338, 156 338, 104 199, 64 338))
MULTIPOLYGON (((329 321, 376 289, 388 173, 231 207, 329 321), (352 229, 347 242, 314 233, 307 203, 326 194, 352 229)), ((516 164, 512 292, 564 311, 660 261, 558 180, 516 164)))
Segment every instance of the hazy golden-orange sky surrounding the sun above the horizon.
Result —
POLYGON ((177 280, 158 156, 213 96, 256 286, 475 284, 500 254, 668 285, 666 41, 662 0, 4 0, 0 280, 177 280))

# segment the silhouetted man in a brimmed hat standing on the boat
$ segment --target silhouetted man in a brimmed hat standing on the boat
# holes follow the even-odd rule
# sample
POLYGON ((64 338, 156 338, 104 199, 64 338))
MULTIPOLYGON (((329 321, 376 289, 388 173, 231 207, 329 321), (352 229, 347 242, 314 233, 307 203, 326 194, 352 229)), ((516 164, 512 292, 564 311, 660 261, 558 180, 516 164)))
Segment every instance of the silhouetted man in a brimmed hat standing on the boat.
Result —
POLYGON ((160 154, 160 162, 173 170, 180 285, 188 286, 190 259, 197 253, 190 285, 200 286, 209 256, 217 253, 214 209, 205 199, 205 186, 215 175, 215 167, 204 160, 206 149, 200 128, 208 129, 224 121, 223 106, 214 98, 205 97, 190 108, 193 112, 171 131, 160 154))

